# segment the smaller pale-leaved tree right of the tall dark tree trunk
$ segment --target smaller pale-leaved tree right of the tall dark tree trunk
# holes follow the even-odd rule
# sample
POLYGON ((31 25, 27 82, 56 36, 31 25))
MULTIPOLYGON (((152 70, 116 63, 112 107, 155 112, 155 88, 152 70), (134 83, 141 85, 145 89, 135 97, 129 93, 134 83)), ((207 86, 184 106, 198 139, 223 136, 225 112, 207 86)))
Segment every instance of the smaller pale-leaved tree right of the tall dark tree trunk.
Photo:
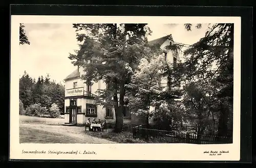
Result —
POLYGON ((134 114, 145 116, 147 126, 148 118, 153 117, 155 112, 150 107, 162 103, 159 97, 163 90, 160 85, 163 65, 162 57, 156 55, 150 62, 145 58, 141 59, 138 70, 132 75, 131 83, 125 85, 130 93, 125 97, 125 102, 134 114))

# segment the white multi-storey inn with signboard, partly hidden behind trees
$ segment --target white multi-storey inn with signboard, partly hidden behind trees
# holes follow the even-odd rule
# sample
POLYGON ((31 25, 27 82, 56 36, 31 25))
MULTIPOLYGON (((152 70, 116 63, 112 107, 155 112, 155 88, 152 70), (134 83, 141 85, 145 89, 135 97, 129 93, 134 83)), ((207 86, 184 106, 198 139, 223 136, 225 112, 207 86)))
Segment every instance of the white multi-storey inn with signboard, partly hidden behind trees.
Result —
MULTIPOLYGON (((164 36, 148 43, 160 44, 161 49, 170 43, 174 43, 172 35, 164 36)), ((172 51, 163 54, 165 61, 177 63, 172 51)), ((65 79, 65 123, 84 124, 88 118, 106 120, 107 123, 115 123, 114 108, 105 109, 101 105, 95 105, 95 97, 97 89, 105 89, 106 84, 99 80, 92 86, 88 86, 81 80, 83 74, 82 68, 78 67, 65 79)), ((167 80, 162 79, 162 85, 167 86, 167 80)), ((123 113, 124 124, 140 124, 142 119, 138 116, 131 115, 130 110, 126 108, 123 113)))

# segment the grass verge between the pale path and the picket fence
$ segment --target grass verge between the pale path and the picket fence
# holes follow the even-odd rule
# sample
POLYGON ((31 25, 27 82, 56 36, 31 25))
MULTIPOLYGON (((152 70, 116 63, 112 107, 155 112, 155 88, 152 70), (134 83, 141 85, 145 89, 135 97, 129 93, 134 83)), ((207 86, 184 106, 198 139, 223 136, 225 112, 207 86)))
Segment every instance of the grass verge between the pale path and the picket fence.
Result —
POLYGON ((132 132, 94 132, 94 131, 85 131, 84 133, 98 137, 103 139, 108 139, 113 142, 121 143, 121 144, 127 144, 127 143, 148 143, 145 141, 142 141, 140 139, 134 139, 132 132))

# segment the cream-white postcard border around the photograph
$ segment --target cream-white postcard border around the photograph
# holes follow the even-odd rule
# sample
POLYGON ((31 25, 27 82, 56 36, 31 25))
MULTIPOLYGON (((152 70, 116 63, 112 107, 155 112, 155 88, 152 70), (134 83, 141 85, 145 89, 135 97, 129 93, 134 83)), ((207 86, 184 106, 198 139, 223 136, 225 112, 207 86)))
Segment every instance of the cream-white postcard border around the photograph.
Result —
POLYGON ((240 160, 241 91, 240 17, 161 16, 11 16, 10 159, 77 160, 240 160), (19 144, 19 23, 234 23, 233 144, 19 144), (25 154, 24 151, 46 151, 25 154), (94 151, 95 154, 48 154, 48 151, 94 151), (204 151, 229 151, 209 156, 204 151))

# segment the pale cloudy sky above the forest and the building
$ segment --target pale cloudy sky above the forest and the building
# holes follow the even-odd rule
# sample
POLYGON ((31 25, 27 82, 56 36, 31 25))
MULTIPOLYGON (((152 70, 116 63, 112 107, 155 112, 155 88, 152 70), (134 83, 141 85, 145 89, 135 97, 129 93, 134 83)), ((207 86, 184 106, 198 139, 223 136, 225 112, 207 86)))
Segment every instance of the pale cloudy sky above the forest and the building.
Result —
MULTIPOLYGON (((76 67, 68 58, 78 49, 76 32, 72 24, 30 23, 25 25, 30 45, 19 46, 20 77, 26 71, 32 78, 50 75, 51 80, 63 83, 63 79, 76 67)), ((186 31, 184 24, 148 24, 153 31, 148 41, 172 34, 175 42, 194 44, 204 37, 207 25, 186 31)))

